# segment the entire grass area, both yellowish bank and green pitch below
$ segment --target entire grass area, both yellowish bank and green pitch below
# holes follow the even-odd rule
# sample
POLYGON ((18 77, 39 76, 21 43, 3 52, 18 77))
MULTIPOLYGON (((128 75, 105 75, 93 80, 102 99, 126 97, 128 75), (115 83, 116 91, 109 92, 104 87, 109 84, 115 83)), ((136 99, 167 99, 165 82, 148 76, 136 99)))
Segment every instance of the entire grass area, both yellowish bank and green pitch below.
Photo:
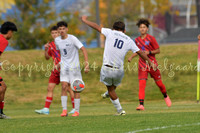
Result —
MULTIPOLYGON (((60 118, 60 85, 48 116, 37 115, 35 109, 44 106, 49 66, 41 50, 5 52, 0 76, 8 89, 5 113, 10 120, 0 120, 0 132, 200 132, 200 106, 196 104, 197 48, 191 45, 164 45, 157 55, 162 79, 172 99, 167 108, 159 89, 149 77, 146 87, 145 111, 137 112, 137 61, 130 64, 125 58, 125 76, 117 89, 126 116, 113 116, 115 109, 100 94, 106 88, 99 82, 103 49, 88 49, 91 71, 83 73, 86 89, 81 94, 81 115, 60 118), (24 69, 22 70, 22 66, 24 69)), ((80 54, 83 62, 83 56, 80 54)), ((69 108, 71 107, 68 100, 69 108)))

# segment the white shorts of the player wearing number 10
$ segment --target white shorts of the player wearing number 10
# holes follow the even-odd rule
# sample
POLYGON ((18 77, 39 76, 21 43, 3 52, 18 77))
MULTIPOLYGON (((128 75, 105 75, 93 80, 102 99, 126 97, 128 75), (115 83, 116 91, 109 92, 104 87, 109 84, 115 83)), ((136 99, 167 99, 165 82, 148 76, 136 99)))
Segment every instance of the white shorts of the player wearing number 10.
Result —
POLYGON ((123 77, 124 77, 123 67, 120 69, 116 69, 103 65, 101 68, 100 81, 103 82, 106 86, 120 85, 123 77))

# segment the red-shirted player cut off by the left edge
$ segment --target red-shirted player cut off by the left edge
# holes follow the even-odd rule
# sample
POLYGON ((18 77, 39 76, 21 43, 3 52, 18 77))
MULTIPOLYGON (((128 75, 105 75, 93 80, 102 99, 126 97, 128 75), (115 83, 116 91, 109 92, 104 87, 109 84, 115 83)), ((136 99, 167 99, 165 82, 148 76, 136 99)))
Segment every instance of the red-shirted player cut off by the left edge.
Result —
MULTIPOLYGON (((0 56, 8 46, 8 40, 10 40, 13 36, 13 32, 17 31, 17 27, 14 23, 12 22, 5 22, 1 25, 1 34, 0 34, 0 56)), ((1 64, 1 63, 0 63, 1 64)), ((0 65, 1 69, 1 65, 0 65)), ((4 97, 6 93, 6 84, 3 81, 3 78, 0 77, 0 119, 7 119, 7 117, 3 113, 3 108, 4 108, 4 97)))

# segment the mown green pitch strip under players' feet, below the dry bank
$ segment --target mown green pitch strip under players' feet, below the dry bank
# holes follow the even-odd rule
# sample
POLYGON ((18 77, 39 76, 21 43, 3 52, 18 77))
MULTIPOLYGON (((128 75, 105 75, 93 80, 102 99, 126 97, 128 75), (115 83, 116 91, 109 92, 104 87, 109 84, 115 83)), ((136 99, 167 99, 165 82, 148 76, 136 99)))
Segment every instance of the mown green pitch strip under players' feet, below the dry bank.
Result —
MULTIPOLYGON (((109 103, 108 99, 105 101, 109 103)), ((122 106, 127 113, 125 116, 114 116, 115 109, 110 103, 82 105, 79 117, 62 118, 59 116, 60 106, 54 103, 50 115, 35 114, 34 109, 37 106, 8 105, 6 112, 12 119, 0 121, 0 132, 121 133, 156 127, 160 129, 146 132, 198 133, 200 131, 199 105, 194 102, 174 102, 171 108, 167 108, 164 101, 147 102, 146 110, 142 112, 135 110, 136 102, 122 106), (185 124, 191 125, 185 126, 185 124), (172 125, 175 127, 171 127, 172 125)))

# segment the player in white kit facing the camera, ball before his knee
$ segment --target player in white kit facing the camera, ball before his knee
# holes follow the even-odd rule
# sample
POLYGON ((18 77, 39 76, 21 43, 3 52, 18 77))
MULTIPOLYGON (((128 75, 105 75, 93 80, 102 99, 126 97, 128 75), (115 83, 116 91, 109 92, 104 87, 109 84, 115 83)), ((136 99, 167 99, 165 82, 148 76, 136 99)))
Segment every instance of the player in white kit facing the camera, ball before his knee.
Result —
MULTIPOLYGON (((63 107, 62 117, 67 116, 67 90, 70 88, 70 83, 75 79, 81 79, 81 70, 79 63, 80 49, 83 52, 85 59, 85 73, 89 72, 88 55, 83 44, 71 34, 68 34, 68 25, 64 21, 57 23, 60 36, 55 39, 57 49, 60 51, 61 62, 58 64, 60 68, 60 82, 62 85, 61 104, 63 107)), ((80 108, 80 93, 74 93, 75 113, 72 116, 79 116, 80 108)))

